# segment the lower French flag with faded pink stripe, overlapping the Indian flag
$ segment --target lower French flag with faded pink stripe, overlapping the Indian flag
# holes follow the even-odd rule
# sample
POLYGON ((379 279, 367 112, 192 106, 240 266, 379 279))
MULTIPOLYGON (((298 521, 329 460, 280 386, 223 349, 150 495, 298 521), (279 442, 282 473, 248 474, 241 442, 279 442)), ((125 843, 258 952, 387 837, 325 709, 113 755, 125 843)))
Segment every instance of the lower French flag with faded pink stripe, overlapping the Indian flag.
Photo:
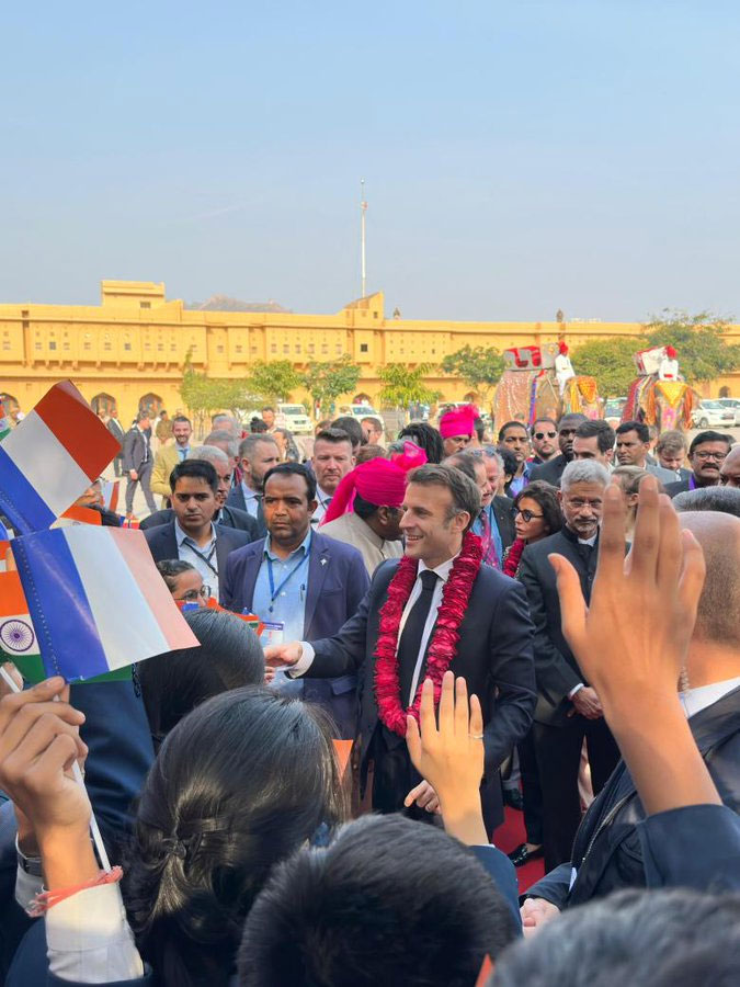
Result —
POLYGON ((47 676, 76 682, 198 645, 140 531, 56 527, 15 538, 13 555, 47 676))

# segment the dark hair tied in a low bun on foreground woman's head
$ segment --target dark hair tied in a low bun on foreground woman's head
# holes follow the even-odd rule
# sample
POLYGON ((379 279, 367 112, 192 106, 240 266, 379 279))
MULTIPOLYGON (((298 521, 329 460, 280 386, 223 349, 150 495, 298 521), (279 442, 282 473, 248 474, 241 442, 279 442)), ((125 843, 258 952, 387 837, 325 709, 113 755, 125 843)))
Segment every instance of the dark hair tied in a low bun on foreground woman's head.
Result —
POLYGON ((169 734, 139 801, 124 897, 163 985, 219 987, 272 865, 342 818, 320 711, 249 687, 169 734))

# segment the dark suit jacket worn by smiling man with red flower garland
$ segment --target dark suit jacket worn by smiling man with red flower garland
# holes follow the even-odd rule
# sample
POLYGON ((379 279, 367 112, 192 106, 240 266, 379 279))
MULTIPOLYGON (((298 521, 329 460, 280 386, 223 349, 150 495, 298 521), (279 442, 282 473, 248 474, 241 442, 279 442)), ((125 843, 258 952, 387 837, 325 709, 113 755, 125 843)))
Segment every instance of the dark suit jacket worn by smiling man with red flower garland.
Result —
MULTIPOLYGON (((312 642, 316 657, 308 674, 327 678, 357 673, 363 763, 378 722, 373 653, 379 612, 397 567, 398 559, 378 566, 357 613, 333 637, 312 642)), ((460 624, 457 655, 451 669, 456 676, 464 676, 468 692, 475 692, 480 699, 489 776, 532 723, 536 701, 532 637, 522 587, 490 566, 481 566, 460 624)))

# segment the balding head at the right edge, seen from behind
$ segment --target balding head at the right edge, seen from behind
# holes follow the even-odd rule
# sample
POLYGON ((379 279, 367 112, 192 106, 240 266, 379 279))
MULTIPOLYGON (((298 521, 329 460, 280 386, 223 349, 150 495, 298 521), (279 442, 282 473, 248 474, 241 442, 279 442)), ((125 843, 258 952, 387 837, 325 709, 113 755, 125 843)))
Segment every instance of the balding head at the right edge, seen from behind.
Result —
POLYGON ((681 527, 696 537, 706 563, 694 639, 735 649, 735 674, 740 674, 740 518, 717 511, 692 511, 679 514, 679 520, 681 527))

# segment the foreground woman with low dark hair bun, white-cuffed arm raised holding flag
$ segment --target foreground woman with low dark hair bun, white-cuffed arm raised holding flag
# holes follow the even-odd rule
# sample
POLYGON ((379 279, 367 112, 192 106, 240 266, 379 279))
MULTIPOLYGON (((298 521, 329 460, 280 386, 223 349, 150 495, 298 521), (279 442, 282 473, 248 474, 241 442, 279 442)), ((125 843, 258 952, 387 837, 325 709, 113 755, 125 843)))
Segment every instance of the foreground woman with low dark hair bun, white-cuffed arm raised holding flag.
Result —
MULTIPOLYGON (((49 699, 60 683, 35 687, 26 702, 49 699)), ((56 705, 67 719, 78 715, 56 705)), ((56 728, 75 733, 61 719, 56 728)), ((75 904, 66 911, 66 899, 54 904, 31 927, 9 987, 227 987, 244 918, 272 866, 326 840, 345 815, 321 711, 262 685, 234 689, 202 703, 164 739, 136 806, 117 885, 117 869, 106 878, 99 870, 87 792, 65 773, 67 748, 73 760, 84 756, 83 745, 65 736, 60 746, 64 757, 44 752, 47 783, 26 808, 41 835, 45 877, 75 892, 75 904)))

